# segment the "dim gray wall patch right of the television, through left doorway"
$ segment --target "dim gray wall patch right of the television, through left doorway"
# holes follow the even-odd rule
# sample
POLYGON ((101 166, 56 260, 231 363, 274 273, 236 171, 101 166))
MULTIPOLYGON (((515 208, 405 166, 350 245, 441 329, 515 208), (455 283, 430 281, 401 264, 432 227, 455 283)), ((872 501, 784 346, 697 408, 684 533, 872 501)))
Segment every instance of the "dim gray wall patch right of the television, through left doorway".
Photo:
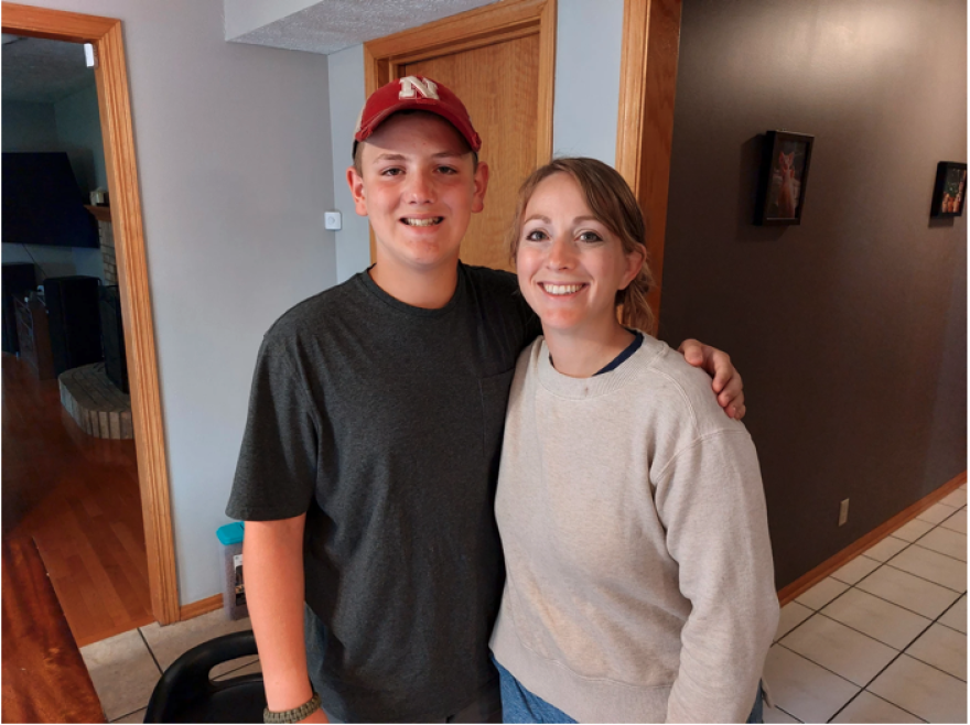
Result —
POLYGON ((97 86, 93 84, 54 104, 54 121, 78 185, 86 192, 108 188, 97 86))

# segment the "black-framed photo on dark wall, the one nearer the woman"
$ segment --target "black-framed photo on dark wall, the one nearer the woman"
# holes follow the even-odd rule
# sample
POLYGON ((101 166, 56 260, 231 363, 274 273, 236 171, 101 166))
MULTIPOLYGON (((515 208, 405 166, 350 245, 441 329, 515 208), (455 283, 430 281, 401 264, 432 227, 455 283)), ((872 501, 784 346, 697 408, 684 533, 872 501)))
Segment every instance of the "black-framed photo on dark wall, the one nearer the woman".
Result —
POLYGON ((768 131, 754 223, 801 224, 813 136, 768 131))

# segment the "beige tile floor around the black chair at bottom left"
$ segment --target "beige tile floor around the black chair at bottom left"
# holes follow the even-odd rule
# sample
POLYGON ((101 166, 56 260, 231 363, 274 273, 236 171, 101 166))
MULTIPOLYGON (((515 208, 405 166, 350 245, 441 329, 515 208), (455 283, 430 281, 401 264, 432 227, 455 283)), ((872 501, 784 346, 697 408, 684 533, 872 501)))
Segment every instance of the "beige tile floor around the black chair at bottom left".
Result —
MULTIPOLYGON (((110 723, 142 723, 148 701, 162 671, 183 652, 214 637, 251 629, 249 619, 236 621, 219 612, 180 621, 139 627, 80 648, 105 716, 110 723)), ((259 660, 246 657, 213 668, 215 680, 259 671, 259 660)))

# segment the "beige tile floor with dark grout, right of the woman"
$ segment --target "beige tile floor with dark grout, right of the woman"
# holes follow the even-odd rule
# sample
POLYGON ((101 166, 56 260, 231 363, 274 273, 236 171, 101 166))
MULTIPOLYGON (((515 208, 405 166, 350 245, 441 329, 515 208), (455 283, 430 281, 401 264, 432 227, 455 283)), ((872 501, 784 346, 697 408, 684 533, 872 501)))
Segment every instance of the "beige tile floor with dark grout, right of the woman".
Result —
POLYGON ((766 723, 967 722, 967 487, 782 608, 766 723))

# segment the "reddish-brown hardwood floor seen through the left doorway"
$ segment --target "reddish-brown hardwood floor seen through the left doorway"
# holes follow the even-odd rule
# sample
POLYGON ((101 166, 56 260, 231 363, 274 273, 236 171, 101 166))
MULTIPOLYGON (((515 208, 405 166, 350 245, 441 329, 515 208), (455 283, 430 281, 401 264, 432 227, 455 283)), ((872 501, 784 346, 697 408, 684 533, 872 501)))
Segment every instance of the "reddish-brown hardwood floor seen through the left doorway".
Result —
POLYGON ((78 647, 154 621, 134 442, 95 439, 56 380, 2 359, 3 537, 33 537, 78 647))

